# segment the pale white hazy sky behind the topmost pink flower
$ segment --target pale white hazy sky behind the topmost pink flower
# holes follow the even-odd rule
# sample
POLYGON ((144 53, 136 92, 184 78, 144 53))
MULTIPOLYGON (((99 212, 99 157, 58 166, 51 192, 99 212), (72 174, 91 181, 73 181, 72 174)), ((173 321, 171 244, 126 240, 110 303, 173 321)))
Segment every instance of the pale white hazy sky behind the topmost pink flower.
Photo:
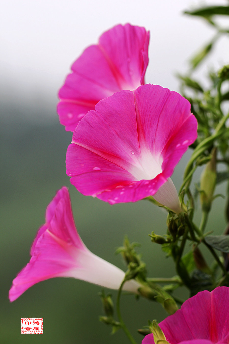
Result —
MULTIPOLYGON (((202 19, 183 15, 200 4, 226 0, 4 0, 0 15, 1 93, 10 101, 56 94, 74 60, 118 23, 150 30, 146 82, 178 90, 175 72, 214 34, 202 19)), ((221 39, 208 66, 228 63, 229 43, 221 39)), ((201 68, 200 68, 201 72, 201 68)))

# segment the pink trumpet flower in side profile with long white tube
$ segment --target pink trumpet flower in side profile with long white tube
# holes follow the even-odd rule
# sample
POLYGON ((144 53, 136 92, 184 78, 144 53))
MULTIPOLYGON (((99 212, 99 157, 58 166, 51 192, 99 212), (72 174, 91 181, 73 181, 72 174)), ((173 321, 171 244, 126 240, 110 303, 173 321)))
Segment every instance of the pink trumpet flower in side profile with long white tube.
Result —
MULTIPOLYGON (((100 286, 118 289, 124 272, 94 255, 83 244, 72 217, 67 187, 62 187, 46 210, 46 222, 39 229, 31 247, 30 262, 13 280, 10 301, 17 299, 35 283, 53 277, 74 277, 100 286)), ((124 290, 137 293, 134 280, 124 290)))

